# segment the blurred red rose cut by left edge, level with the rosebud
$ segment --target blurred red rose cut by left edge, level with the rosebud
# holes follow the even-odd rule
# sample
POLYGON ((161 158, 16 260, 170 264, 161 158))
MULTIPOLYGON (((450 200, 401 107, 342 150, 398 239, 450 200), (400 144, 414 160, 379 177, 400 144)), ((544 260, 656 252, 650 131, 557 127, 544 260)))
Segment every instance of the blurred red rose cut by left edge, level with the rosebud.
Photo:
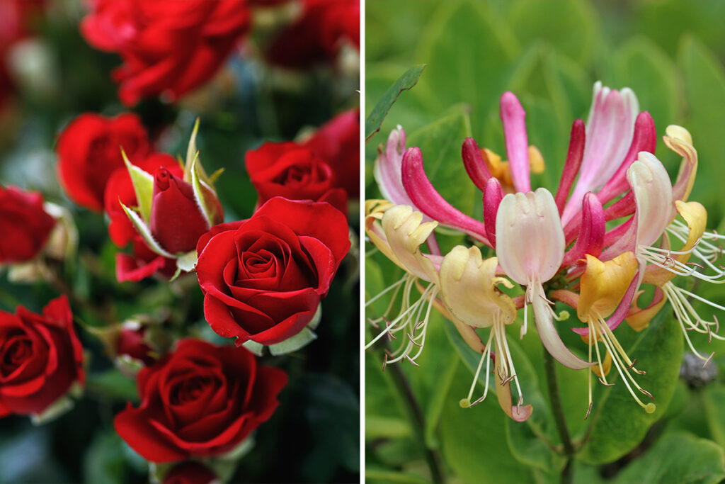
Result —
POLYGON ((38 255, 54 225, 43 210, 43 195, 0 186, 0 264, 38 255))

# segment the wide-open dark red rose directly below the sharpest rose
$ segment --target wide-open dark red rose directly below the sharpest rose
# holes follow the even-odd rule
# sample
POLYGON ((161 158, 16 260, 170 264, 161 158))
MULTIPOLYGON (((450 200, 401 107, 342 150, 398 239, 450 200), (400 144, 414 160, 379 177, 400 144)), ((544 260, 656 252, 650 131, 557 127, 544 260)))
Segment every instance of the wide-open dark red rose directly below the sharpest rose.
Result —
POLYGON ((286 382, 244 348, 181 340, 138 372, 141 406, 129 403, 114 425, 150 462, 225 454, 270 418, 286 382))

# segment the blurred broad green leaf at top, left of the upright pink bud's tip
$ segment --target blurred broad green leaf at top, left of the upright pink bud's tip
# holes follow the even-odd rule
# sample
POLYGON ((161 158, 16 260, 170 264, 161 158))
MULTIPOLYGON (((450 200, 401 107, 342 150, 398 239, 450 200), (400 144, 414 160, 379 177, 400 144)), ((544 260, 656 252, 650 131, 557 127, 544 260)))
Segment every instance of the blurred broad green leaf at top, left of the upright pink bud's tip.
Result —
POLYGON ((480 132, 505 91, 521 51, 518 41, 482 1, 441 2, 425 30, 416 58, 428 63, 428 71, 419 89, 434 111, 471 104, 474 132, 480 132))

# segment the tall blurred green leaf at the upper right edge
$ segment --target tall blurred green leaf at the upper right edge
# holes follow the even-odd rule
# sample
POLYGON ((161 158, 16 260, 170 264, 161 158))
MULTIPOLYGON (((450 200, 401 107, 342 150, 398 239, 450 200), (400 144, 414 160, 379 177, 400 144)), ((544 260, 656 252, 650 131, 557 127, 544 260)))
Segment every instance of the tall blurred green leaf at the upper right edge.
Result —
MULTIPOLYGON (((684 126, 692 134, 700 165, 692 189, 693 200, 709 209, 721 205, 721 188, 725 171, 720 163, 725 159, 725 69, 707 47, 694 37, 684 37, 680 44, 678 64, 684 75, 684 92, 689 119, 684 126)), ((709 214, 718 220, 722 209, 709 214)))

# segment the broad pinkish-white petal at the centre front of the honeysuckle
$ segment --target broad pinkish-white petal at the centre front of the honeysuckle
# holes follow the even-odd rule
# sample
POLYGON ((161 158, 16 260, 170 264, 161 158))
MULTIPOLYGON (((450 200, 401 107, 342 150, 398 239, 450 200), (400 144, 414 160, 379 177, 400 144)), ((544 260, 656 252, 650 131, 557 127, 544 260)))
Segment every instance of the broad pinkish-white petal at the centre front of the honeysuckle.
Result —
POLYGON ((503 197, 496 237, 499 263, 515 282, 547 282, 559 270, 564 231, 554 197, 546 189, 503 197))

